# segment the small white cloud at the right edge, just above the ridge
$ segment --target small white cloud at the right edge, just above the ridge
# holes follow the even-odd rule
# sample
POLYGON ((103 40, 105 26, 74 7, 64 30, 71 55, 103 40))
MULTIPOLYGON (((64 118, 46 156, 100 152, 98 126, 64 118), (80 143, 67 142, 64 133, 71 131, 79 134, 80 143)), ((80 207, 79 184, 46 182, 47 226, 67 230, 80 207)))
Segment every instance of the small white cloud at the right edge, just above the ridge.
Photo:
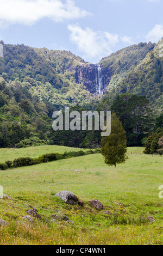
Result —
POLYGON ((163 25, 155 25, 146 35, 147 41, 158 42, 163 36, 163 25))

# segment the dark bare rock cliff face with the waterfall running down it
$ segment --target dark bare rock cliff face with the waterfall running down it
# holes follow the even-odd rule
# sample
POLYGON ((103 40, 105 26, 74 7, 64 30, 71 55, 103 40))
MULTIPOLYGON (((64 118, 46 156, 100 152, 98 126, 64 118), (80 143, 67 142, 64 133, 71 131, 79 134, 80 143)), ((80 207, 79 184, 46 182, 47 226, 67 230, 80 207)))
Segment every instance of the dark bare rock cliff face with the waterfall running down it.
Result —
POLYGON ((83 64, 77 66, 75 72, 76 83, 83 83, 91 94, 103 96, 106 90, 106 81, 103 67, 99 64, 83 64))

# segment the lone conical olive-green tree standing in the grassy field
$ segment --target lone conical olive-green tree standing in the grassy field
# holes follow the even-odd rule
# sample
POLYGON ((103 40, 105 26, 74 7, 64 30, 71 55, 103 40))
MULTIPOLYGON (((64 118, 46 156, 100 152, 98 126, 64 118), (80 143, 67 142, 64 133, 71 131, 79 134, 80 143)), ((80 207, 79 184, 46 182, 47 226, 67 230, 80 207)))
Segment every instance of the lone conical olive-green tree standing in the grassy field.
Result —
POLYGON ((111 115, 111 134, 108 137, 103 137, 101 144, 102 155, 105 163, 109 166, 116 167, 117 163, 124 163, 128 159, 126 131, 115 113, 111 115))

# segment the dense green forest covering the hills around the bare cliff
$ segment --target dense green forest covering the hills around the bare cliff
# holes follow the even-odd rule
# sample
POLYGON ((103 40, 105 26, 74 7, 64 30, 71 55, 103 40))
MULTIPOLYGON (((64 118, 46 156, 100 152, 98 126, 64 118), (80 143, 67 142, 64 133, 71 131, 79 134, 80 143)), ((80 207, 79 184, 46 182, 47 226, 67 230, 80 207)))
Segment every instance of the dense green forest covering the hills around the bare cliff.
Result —
POLYGON ((163 136, 159 130, 163 119, 161 42, 133 45, 103 58, 100 64, 107 84, 103 97, 92 95, 84 81, 76 81, 77 69, 90 64, 71 52, 1 44, 1 148, 100 147, 101 131, 53 131, 53 112, 64 114, 66 106, 80 113, 115 112, 127 132, 128 146, 146 145, 147 154, 156 153, 159 136, 163 136))

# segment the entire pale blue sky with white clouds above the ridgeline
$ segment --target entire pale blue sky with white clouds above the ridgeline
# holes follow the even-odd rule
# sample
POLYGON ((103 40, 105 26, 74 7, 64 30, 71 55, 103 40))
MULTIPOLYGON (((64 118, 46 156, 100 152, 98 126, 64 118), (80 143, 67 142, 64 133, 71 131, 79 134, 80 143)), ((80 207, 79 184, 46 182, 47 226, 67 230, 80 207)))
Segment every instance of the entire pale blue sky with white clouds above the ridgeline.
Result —
POLYGON ((0 39, 85 61, 163 36, 163 0, 0 0, 0 39))

